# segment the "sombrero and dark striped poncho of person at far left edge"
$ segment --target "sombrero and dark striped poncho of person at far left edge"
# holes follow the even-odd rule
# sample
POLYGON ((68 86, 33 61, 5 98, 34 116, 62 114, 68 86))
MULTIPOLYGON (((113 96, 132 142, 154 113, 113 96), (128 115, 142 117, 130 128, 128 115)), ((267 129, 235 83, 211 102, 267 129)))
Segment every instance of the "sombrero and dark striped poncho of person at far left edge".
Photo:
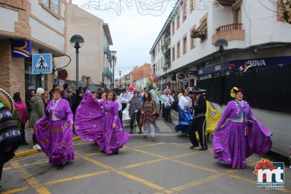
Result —
POLYGON ((0 180, 4 163, 12 159, 16 148, 23 144, 13 112, 13 99, 0 88, 0 180))

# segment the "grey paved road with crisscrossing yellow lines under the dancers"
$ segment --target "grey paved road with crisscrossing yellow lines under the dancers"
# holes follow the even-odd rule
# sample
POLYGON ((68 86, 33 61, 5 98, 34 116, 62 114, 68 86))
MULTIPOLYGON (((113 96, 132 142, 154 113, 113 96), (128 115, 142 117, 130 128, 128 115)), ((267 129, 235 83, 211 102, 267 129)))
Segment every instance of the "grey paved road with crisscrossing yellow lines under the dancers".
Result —
POLYGON ((291 193, 291 170, 287 165, 285 190, 258 188, 253 171, 261 156, 248 158, 244 170, 232 170, 213 159, 211 143, 207 151, 190 150, 188 137, 174 132, 177 118, 173 118, 173 123, 159 119, 154 141, 134 133, 118 155, 101 154, 94 143, 80 140, 74 144, 76 159, 63 170, 51 166, 44 153, 13 160, 4 165, 0 193, 291 193))

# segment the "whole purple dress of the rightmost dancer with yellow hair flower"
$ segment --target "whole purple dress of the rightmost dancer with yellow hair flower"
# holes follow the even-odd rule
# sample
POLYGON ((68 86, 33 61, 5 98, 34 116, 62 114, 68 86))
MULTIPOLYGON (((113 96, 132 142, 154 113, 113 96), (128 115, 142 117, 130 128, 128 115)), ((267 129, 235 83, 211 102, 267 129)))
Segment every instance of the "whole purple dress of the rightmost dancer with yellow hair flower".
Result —
POLYGON ((246 101, 229 101, 213 134, 213 157, 219 162, 232 165, 234 169, 245 168, 247 157, 270 150, 271 135, 257 121, 246 101), (223 125, 227 118, 227 123, 223 125))

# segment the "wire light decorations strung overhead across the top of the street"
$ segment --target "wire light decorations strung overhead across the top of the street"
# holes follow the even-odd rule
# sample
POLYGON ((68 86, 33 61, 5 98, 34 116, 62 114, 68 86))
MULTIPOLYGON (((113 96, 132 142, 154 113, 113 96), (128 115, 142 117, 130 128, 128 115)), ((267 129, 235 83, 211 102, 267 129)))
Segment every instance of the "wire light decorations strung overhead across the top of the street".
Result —
POLYGON ((101 11, 113 10, 118 16, 121 15, 124 8, 131 9, 136 7, 141 15, 162 16, 170 5, 172 7, 172 12, 169 16, 170 20, 176 19, 181 11, 186 16, 188 12, 190 13, 190 9, 223 9, 218 0, 190 0, 193 6, 186 6, 185 2, 186 0, 88 0, 82 7, 101 11))

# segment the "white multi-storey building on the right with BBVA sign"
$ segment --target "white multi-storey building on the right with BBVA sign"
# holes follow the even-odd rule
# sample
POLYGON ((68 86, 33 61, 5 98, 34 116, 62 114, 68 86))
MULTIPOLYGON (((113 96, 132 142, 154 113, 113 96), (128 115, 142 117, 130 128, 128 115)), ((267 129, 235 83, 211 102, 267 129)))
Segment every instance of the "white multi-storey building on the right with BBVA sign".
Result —
MULTIPOLYGON (((182 81, 176 81, 177 73, 186 75, 186 87, 194 86, 196 79, 219 75, 220 66, 217 65, 220 65, 220 53, 214 47, 218 38, 228 42, 224 52, 224 70, 231 63, 238 67, 250 61, 259 68, 269 66, 273 61, 276 65, 290 60, 286 56, 291 56, 288 46, 291 43, 291 36, 288 35, 291 25, 282 21, 275 12, 254 0, 219 0, 224 5, 223 9, 195 10, 194 4, 200 1, 194 0, 192 4, 190 2, 193 0, 180 0, 181 4, 186 5, 185 12, 181 11, 178 18, 166 21, 150 50, 152 72, 156 71, 164 77, 165 69, 161 64, 164 65, 165 61, 162 61, 159 48, 170 25, 171 65, 167 68, 167 74, 171 78, 167 80, 171 80, 172 89, 183 87, 182 81)), ((267 7, 272 5, 265 3, 267 7)))

